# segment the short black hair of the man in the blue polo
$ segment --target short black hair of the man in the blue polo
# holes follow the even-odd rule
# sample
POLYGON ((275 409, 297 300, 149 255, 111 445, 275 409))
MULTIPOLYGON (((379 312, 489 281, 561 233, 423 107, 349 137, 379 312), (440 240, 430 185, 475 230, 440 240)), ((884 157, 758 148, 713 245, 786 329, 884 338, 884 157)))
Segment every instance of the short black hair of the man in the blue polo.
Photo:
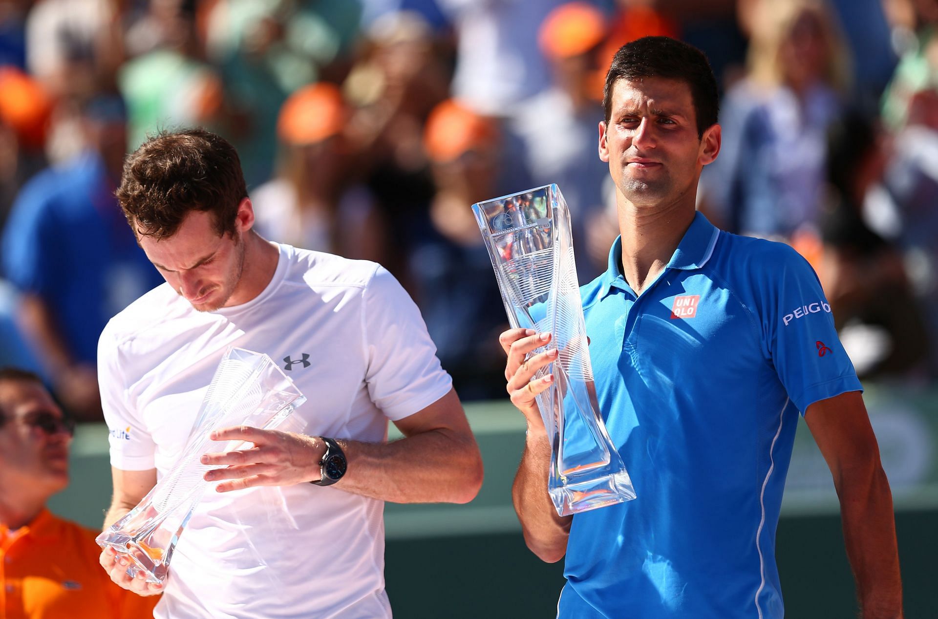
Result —
POLYGON ((643 37, 619 48, 606 73, 602 108, 608 123, 613 115, 613 87, 619 80, 660 77, 680 80, 690 87, 697 121, 697 137, 717 124, 719 90, 706 56, 693 45, 669 37, 643 37))

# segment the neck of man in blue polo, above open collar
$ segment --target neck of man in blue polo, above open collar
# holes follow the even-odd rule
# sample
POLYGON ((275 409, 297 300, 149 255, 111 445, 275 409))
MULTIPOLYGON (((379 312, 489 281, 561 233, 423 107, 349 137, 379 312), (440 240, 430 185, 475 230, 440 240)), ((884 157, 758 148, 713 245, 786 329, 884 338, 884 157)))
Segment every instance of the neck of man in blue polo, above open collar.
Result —
POLYGON ((622 234, 622 275, 635 294, 660 275, 694 220, 693 201, 639 206, 617 196, 622 234))

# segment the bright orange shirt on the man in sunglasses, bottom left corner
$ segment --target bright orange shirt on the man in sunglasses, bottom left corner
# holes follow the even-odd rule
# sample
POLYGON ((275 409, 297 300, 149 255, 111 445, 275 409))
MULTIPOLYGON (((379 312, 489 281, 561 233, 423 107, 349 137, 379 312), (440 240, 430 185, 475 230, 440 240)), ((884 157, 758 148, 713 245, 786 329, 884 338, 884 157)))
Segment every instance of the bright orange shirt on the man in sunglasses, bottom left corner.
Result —
POLYGON ((97 532, 43 509, 16 531, 0 525, 0 619, 143 619, 159 596, 114 584, 97 532))

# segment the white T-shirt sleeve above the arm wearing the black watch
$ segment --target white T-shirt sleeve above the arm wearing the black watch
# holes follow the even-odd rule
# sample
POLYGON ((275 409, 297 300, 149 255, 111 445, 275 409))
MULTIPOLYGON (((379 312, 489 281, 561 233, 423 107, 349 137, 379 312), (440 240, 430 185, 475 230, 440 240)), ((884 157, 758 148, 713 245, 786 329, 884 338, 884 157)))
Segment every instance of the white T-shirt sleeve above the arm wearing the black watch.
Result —
POLYGON ((362 332, 371 401, 392 421, 413 415, 452 388, 410 295, 378 266, 362 304, 362 332))

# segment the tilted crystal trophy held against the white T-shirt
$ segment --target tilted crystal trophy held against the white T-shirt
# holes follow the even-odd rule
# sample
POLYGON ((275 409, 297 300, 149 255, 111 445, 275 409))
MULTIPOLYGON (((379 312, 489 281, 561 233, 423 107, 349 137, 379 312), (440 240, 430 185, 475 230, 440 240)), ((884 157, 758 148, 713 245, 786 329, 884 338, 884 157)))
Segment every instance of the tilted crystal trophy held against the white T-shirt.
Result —
POLYGON ((181 455, 138 506, 98 536, 98 545, 112 547, 129 559, 131 577, 142 572, 146 581, 165 581, 179 536, 209 485, 203 476, 217 466, 199 459, 209 451, 250 445, 215 442, 209 433, 229 426, 273 429, 305 401, 269 356, 229 348, 208 385, 181 455))

